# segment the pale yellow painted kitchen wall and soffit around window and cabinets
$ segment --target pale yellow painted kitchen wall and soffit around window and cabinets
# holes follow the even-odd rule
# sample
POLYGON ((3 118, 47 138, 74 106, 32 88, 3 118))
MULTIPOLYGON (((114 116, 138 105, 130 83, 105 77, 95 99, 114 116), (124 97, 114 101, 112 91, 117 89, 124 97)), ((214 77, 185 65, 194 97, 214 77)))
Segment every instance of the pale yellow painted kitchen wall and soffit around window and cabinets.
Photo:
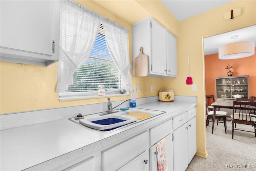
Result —
MULTIPOLYGON (((172 89, 175 95, 180 96, 198 96, 197 155, 206 157, 202 38, 256 24, 256 1, 235 0, 182 22, 178 22, 160 0, 97 0, 93 2, 76 0, 76 2, 129 29, 130 61, 132 61, 131 24, 152 16, 177 37, 178 77, 160 79, 132 76, 132 83, 134 87, 140 85, 141 92, 136 94, 138 98, 157 96, 160 89, 172 89), (238 7, 242 9, 241 16, 233 20, 223 20, 225 12, 238 7), (197 85, 196 92, 191 91, 191 85, 186 85, 188 55, 190 55, 190 76, 193 83, 197 85), (154 85, 154 92, 150 92, 150 85, 154 85)), ((57 63, 50 67, 38 67, 1 62, 0 67, 1 114, 106 102, 106 98, 60 102, 58 93, 55 92, 57 63)), ((113 97, 112 100, 127 98, 128 96, 113 97)))

